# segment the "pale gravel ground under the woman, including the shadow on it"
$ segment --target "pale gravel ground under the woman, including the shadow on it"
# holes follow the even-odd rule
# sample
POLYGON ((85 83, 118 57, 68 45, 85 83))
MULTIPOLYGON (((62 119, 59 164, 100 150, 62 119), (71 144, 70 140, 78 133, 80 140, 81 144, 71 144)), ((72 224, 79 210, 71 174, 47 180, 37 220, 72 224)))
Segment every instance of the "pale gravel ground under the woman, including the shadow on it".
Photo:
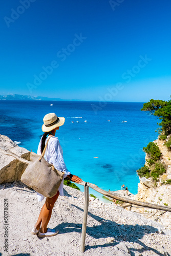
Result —
POLYGON ((84 194, 68 186, 59 197, 48 227, 59 229, 50 238, 30 231, 44 204, 19 182, 0 185, 0 255, 171 255, 171 230, 113 203, 90 197, 85 252, 80 252, 84 194), (8 199, 8 252, 4 251, 4 199, 8 199))

